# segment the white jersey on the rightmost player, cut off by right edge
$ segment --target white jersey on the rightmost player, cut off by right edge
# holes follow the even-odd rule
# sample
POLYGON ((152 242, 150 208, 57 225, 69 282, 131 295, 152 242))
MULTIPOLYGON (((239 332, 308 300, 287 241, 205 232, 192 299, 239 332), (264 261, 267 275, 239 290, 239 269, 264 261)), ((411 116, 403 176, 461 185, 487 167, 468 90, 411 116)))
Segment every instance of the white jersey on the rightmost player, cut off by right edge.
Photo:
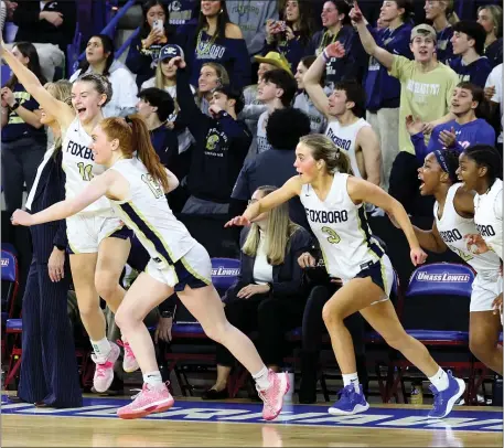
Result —
POLYGON ((502 259, 502 180, 474 196, 474 223, 486 245, 502 259))

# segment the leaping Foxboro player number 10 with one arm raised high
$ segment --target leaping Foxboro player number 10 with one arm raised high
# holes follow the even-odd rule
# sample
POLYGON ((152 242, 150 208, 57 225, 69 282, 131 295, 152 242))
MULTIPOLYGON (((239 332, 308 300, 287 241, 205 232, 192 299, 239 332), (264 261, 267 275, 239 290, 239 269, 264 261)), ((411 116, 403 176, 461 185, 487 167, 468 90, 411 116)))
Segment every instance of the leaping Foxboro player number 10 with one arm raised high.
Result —
MULTIPOLYGON (((77 196, 95 175, 105 170, 94 160, 90 132, 104 118, 101 109, 112 95, 110 83, 95 74, 78 78, 72 87, 72 104, 76 116, 71 106, 50 95, 33 73, 3 47, 3 43, 0 50, 26 92, 56 117, 64 136, 62 151, 66 198, 77 196)), ((81 318, 93 345, 92 358, 96 363, 93 385, 100 393, 110 387, 114 363, 119 356, 119 348, 106 338, 99 297, 104 298, 115 312, 125 296, 119 277, 128 258, 130 233, 122 227, 122 222, 114 214, 106 198, 100 198, 66 220, 73 282, 81 318)), ((126 372, 135 372, 138 363, 129 344, 125 341, 124 345, 124 369, 126 372)))

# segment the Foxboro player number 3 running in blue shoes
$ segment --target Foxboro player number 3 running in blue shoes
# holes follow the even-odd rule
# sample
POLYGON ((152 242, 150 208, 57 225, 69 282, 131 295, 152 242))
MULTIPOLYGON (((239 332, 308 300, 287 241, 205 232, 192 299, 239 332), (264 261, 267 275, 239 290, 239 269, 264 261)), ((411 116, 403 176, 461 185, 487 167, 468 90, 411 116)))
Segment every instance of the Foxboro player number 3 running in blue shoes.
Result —
POLYGON ((403 329, 388 300, 394 270, 371 233, 362 204, 372 203, 397 220, 408 239, 411 262, 416 266, 427 256, 418 244, 404 207, 377 185, 347 174, 351 171, 348 157, 325 136, 302 137, 296 149, 294 167, 299 175, 251 204, 244 215, 230 220, 226 226, 248 225, 260 213, 299 195, 324 254, 329 275, 343 280, 343 287, 322 311, 344 383, 340 401, 329 412, 352 415, 369 407, 358 384, 352 338, 343 323, 347 316, 361 311, 390 346, 400 351, 431 381, 435 404, 429 416, 447 416, 463 394, 465 384, 454 378, 451 372, 447 374, 427 349, 403 329))

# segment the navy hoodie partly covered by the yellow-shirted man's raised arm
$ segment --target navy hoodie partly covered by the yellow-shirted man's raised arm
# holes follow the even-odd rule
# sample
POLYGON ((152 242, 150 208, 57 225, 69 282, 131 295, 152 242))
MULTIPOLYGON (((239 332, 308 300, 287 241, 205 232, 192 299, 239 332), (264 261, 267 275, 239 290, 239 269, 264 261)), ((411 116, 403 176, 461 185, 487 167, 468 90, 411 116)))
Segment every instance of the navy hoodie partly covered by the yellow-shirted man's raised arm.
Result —
MULTIPOLYGON (((412 53, 409 49, 411 35, 411 24, 403 23, 395 30, 384 29, 376 30, 371 25, 371 31, 378 46, 387 50, 392 54, 398 54, 412 60, 412 53)), ((373 56, 369 57, 367 76, 365 81, 366 89, 366 109, 376 111, 382 108, 397 108, 400 102, 400 82, 390 76, 378 61, 373 56)))

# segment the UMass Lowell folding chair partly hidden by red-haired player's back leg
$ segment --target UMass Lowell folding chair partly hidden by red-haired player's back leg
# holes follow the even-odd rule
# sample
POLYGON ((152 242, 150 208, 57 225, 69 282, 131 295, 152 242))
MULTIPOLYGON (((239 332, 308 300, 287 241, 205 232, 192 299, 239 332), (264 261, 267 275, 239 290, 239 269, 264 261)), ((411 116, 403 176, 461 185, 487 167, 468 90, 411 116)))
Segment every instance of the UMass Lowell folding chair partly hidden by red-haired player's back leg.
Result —
MULTIPOLYGON (((234 258, 212 258, 212 282, 219 292, 224 292, 234 285, 240 271, 239 259, 234 258)), ((213 345, 213 342, 203 331, 202 326, 183 306, 179 306, 175 313, 175 322, 172 328, 174 343, 170 344, 164 353, 165 361, 169 362, 168 372, 175 372, 182 391, 192 394, 193 387, 187 381, 185 373, 178 369, 182 363, 214 364, 215 354, 213 350, 204 350, 205 345, 213 345), (181 342, 179 344, 179 342, 181 342), (175 351, 180 349, 180 351, 175 351), (183 381, 182 381, 183 377, 183 381)))

